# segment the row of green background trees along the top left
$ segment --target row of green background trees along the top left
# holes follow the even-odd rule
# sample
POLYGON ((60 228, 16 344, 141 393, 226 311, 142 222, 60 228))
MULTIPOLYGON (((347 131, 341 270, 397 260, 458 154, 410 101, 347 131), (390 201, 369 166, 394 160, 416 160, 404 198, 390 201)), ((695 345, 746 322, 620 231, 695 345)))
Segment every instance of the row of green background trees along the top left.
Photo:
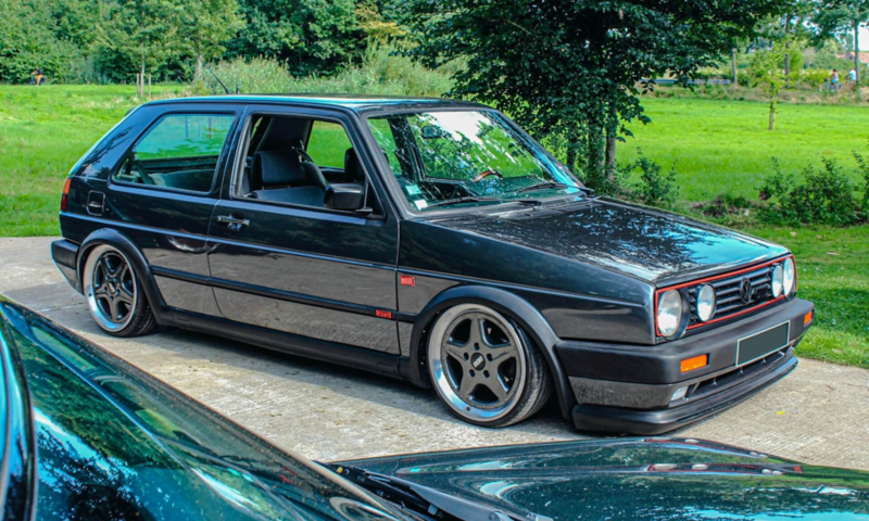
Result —
POLYGON ((0 0, 0 81, 202 80, 216 59, 270 58, 294 75, 358 64, 406 31, 377 0, 0 0))

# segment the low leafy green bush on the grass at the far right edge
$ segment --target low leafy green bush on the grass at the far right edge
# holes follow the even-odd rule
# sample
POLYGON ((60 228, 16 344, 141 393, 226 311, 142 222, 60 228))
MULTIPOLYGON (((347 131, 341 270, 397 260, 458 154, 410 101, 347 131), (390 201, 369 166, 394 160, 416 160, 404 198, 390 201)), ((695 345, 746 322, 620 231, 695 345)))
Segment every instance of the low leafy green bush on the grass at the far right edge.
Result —
POLYGON ((854 200, 854 185, 833 160, 821 158, 823 167, 807 165, 799 185, 781 171, 772 160, 773 174, 759 188, 767 201, 760 218, 773 225, 853 225, 862 219, 854 200))

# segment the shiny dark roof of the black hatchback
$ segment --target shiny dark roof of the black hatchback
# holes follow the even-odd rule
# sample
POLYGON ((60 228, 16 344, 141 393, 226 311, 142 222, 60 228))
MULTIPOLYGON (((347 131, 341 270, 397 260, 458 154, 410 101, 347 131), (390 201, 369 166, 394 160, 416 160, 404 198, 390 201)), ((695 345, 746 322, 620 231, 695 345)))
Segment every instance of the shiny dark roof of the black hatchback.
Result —
POLYGON ((286 94, 223 94, 194 98, 173 98, 152 101, 151 104, 164 103, 269 103, 269 104, 304 104, 338 106, 354 112, 402 111, 415 109, 489 109, 481 103, 443 98, 405 98, 399 96, 341 94, 341 93, 286 93, 286 94))

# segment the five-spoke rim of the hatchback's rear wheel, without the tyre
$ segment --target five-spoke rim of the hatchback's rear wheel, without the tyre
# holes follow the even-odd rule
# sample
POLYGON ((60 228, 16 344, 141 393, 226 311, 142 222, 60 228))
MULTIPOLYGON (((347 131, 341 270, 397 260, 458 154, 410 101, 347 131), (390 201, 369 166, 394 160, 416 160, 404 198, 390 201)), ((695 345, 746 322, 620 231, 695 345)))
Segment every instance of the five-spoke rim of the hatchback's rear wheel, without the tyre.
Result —
POLYGON ((95 247, 85 263, 83 282, 90 316, 100 328, 116 332, 129 326, 139 295, 136 271, 121 251, 108 244, 95 247))

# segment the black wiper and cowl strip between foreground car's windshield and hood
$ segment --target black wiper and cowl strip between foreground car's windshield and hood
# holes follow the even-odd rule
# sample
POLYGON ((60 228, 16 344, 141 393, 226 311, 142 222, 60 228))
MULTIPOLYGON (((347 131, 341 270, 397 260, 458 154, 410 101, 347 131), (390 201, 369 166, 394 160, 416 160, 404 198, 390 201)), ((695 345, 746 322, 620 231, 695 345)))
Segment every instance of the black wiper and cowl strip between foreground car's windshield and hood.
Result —
POLYGON ((430 519, 439 521, 517 521, 522 519, 400 478, 378 474, 348 465, 319 465, 390 503, 430 519))

